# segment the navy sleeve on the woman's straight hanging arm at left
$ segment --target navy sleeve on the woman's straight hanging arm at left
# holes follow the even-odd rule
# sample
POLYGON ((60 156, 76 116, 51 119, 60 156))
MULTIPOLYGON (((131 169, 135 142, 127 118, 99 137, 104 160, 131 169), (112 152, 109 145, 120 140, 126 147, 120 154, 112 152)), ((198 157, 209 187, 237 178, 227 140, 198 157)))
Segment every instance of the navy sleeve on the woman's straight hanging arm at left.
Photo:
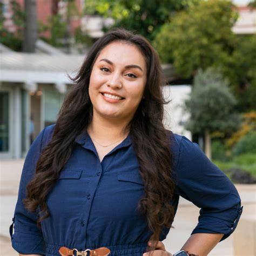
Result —
POLYGON ((22 200, 26 197, 26 185, 35 173, 36 162, 41 153, 42 139, 45 129, 38 135, 26 156, 21 182, 19 184, 18 200, 15 208, 13 224, 10 226, 12 247, 22 254, 45 254, 45 244, 41 229, 37 227, 38 212, 26 211, 22 200), (12 227, 14 226, 14 234, 12 227))

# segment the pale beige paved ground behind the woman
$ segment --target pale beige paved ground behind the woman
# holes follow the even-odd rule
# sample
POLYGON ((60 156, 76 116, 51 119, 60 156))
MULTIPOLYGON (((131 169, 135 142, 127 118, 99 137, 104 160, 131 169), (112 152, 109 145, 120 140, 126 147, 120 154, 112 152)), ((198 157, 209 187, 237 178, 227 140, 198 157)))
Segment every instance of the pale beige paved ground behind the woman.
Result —
MULTIPOLYGON (((14 213, 17 200, 19 178, 21 176, 23 160, 2 160, 0 164, 0 255, 17 255, 11 245, 9 238, 9 226, 14 213)), ((256 185, 236 185, 242 204, 244 205, 244 213, 241 218, 256 218, 256 185)), ((173 226, 167 238, 164 240, 166 249, 170 252, 176 252, 190 236, 191 231, 197 225, 199 209, 186 201, 180 200, 178 212, 174 220, 173 226)), ((256 231, 255 231, 256 233, 256 231)), ((256 241, 256 238, 254 239, 256 241)), ((214 250, 209 254, 233 256, 233 236, 220 242, 214 250)), ((253 256, 253 255, 246 255, 253 256)))

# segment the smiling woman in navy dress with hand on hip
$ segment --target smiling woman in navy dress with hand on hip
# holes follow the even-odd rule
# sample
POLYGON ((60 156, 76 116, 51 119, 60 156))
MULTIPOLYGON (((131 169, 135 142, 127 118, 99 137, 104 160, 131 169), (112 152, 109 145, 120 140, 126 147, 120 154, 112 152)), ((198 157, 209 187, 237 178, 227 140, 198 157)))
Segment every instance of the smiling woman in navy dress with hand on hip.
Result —
POLYGON ((232 233, 237 190, 196 144, 164 129, 165 81, 145 38, 107 33, 73 80, 56 125, 39 134, 25 160, 12 235, 20 255, 59 255, 61 246, 172 255, 160 241, 179 196, 201 211, 174 255, 207 255, 232 233))

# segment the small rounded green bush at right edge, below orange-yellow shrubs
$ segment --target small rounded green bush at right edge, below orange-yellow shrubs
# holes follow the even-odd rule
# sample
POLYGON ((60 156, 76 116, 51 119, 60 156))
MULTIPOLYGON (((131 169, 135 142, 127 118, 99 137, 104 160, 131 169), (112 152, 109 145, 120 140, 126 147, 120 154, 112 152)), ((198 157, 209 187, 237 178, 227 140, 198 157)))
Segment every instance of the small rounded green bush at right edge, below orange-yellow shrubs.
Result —
MULTIPOLYGON (((232 153, 234 156, 245 153, 256 153, 256 131, 248 133, 245 137, 242 137, 238 143, 234 146, 232 153)), ((254 159, 256 161, 256 158, 254 159)))

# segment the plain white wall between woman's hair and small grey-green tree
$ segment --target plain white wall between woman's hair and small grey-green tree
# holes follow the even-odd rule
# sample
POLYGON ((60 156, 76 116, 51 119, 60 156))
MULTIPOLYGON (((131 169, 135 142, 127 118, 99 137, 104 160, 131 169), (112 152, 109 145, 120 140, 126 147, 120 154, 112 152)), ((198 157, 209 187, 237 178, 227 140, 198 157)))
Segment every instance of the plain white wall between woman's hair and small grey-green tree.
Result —
POLYGON ((165 99, 171 100, 164 108, 165 128, 174 133, 184 135, 191 140, 191 132, 184 128, 184 123, 189 114, 183 110, 184 101, 189 97, 190 92, 191 85, 166 85, 163 89, 165 99))

